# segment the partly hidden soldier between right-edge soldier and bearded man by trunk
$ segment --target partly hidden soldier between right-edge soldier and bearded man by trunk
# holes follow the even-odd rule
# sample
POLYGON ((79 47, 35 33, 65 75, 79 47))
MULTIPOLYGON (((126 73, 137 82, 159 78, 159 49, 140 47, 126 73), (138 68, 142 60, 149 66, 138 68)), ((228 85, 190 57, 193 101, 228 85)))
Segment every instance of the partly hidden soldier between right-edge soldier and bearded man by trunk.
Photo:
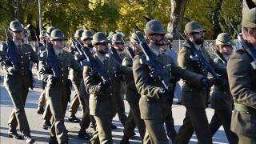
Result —
MULTIPOLYGON (((214 59, 218 65, 226 67, 226 63, 232 54, 232 44, 232 38, 229 34, 218 34, 215 52, 218 58, 214 59)), ((228 79, 225 79, 226 82, 221 86, 214 86, 210 97, 210 106, 214 109, 214 116, 210 122, 210 132, 213 136, 218 131, 218 128, 223 126, 230 144, 237 144, 238 137, 230 130, 233 99, 230 94, 228 79)))

